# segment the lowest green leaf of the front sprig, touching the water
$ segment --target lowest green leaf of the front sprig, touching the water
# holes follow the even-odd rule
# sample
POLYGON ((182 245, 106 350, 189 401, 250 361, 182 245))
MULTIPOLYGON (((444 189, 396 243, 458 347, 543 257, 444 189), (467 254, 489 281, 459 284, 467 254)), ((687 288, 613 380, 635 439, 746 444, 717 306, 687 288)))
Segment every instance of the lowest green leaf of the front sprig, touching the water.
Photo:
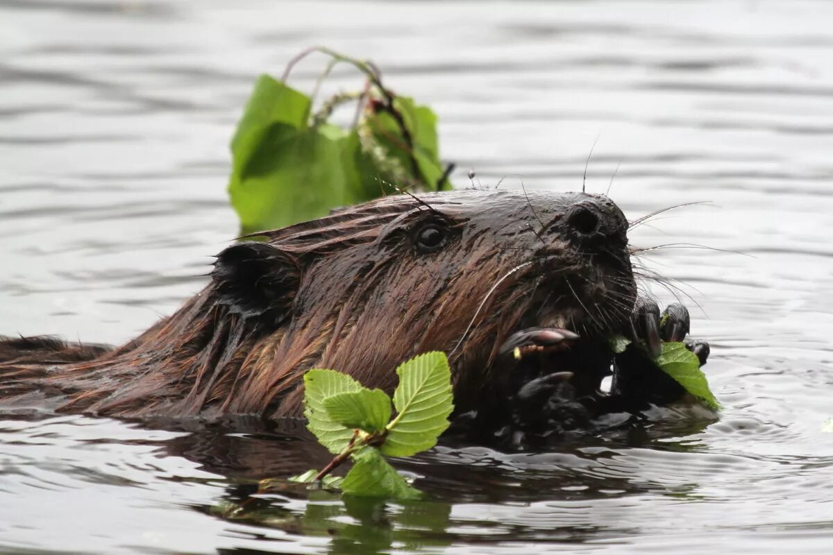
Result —
POLYGON ((418 499, 419 490, 382 458, 375 447, 366 447, 352 455, 353 468, 342 481, 342 492, 365 497, 418 499))

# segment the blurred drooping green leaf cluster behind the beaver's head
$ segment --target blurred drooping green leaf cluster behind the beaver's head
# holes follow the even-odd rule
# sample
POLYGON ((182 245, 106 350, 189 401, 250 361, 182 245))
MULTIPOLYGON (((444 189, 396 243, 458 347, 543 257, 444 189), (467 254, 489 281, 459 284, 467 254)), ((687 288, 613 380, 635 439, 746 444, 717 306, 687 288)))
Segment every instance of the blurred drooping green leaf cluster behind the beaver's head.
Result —
POLYGON ((451 189, 436 114, 382 86, 372 64, 323 52, 357 67, 367 86, 340 93, 313 113, 312 97, 268 75, 257 79, 232 139, 228 184, 245 234, 312 220, 400 187, 451 189), (344 102, 361 108, 350 128, 330 122, 344 102))

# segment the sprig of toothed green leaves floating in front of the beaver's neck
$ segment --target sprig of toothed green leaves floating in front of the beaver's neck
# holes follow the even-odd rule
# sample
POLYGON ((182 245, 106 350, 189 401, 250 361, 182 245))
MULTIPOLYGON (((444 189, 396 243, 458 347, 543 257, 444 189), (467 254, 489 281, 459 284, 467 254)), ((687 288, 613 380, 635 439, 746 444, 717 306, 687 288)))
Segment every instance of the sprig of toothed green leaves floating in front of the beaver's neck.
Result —
POLYGON ((407 457, 436 444, 454 408, 451 369, 445 354, 431 352, 401 364, 397 375, 393 399, 335 370, 312 369, 304 375, 307 428, 336 458, 322 472, 302 474, 296 481, 321 480, 351 458, 353 466, 340 483, 343 493, 420 496, 384 456, 407 457))

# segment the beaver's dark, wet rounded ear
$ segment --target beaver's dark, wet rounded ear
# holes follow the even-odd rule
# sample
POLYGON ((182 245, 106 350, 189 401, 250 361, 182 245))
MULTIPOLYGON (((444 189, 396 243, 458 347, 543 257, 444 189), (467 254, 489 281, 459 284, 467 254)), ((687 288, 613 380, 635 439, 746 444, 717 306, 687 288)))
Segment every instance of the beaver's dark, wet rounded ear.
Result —
POLYGON ((219 304, 234 314, 267 318, 278 324, 289 315, 301 284, 301 267, 267 243, 233 245, 217 255, 211 273, 219 304))

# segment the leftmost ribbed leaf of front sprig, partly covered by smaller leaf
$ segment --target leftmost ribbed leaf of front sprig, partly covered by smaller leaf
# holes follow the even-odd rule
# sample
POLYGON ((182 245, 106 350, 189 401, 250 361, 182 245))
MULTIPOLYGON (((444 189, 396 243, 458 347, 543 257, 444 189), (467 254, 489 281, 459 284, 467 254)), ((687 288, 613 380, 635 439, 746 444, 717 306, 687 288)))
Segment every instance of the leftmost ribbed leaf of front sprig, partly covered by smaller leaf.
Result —
POLYGON ((324 408, 324 399, 361 389, 364 389, 362 384, 335 370, 312 369, 304 374, 304 416, 307 417, 307 429, 331 453, 341 453, 352 438, 353 431, 330 418, 324 408))

